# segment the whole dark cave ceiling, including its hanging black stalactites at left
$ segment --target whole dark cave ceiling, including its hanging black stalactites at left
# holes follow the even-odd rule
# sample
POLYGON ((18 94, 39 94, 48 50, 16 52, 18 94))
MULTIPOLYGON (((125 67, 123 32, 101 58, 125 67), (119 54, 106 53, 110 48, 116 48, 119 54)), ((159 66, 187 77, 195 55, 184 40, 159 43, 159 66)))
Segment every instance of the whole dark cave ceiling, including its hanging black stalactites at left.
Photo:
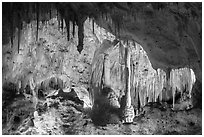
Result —
POLYGON ((12 43, 15 29, 21 29, 23 22, 36 20, 38 30, 38 22, 51 19, 54 11, 65 20, 61 25, 69 26, 67 31, 70 21, 78 26, 79 52, 83 50, 83 23, 89 17, 117 39, 141 44, 154 68, 189 66, 201 76, 202 3, 3 3, 3 32, 9 28, 3 44, 12 43))

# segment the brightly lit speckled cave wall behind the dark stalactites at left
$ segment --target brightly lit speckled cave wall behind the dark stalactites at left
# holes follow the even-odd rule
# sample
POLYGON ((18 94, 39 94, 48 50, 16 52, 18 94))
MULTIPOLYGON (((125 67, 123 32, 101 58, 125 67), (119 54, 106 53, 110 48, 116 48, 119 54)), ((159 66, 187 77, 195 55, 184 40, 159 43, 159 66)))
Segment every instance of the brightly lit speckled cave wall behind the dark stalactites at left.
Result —
MULTIPOLYGON (((68 41, 67 26, 60 27, 62 21, 64 24, 65 21, 59 21, 58 18, 56 15, 48 21, 39 21, 38 40, 37 22, 33 20, 22 24, 21 35, 18 35, 18 28, 14 30, 13 43, 10 40, 3 43, 3 89, 9 85, 8 83, 15 84, 17 90, 25 88, 31 79, 36 86, 40 86, 42 82, 46 86, 53 77, 63 81, 62 88, 69 88, 72 84, 88 88, 94 51, 104 39, 113 40, 114 36, 97 24, 94 25, 93 33, 93 20, 88 18, 84 23, 84 50, 79 54, 76 33, 78 27, 74 28, 74 36, 73 28, 70 29, 68 41)), ((71 21, 70 24, 72 25, 71 21)), ((5 25, 3 30, 3 39, 6 41, 9 39, 10 28, 5 25)))

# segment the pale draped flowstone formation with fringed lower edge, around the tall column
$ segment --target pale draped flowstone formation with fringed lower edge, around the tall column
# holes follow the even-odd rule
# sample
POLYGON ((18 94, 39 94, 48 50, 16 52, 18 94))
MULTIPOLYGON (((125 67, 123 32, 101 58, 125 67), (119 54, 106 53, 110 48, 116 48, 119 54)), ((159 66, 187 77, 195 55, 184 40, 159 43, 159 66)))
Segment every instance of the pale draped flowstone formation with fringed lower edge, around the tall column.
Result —
MULTIPOLYGON (((114 45, 105 40, 95 52, 91 74, 91 97, 93 105, 98 104, 107 85, 113 89, 119 104, 127 94, 127 73, 125 67, 125 47, 130 54, 130 98, 135 110, 143 108, 149 102, 172 101, 173 108, 176 96, 182 99, 191 98, 192 87, 196 81, 190 68, 154 70, 142 47, 133 41, 120 41, 114 45)), ((126 100, 126 104, 128 103, 126 100)), ((116 103, 118 104, 118 103, 116 103)), ((120 107, 120 106, 118 106, 120 107)))

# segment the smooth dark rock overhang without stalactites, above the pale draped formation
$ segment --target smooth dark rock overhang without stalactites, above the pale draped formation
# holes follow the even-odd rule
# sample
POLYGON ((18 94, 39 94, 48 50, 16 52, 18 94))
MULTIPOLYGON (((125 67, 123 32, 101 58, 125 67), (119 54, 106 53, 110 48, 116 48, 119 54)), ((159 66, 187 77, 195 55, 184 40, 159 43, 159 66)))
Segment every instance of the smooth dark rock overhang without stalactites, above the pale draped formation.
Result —
POLYGON ((122 40, 142 45, 154 69, 190 65, 202 81, 201 7, 182 2, 118 3, 106 15, 112 21, 101 16, 97 23, 122 40))

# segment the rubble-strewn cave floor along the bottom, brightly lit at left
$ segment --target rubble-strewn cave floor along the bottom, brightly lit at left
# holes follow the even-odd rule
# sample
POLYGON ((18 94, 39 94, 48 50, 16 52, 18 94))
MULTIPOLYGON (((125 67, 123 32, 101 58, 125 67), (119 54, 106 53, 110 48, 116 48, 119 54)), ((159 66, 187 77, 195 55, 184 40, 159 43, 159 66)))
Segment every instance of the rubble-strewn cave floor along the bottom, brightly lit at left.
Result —
MULTIPOLYGON (((145 107, 145 113, 134 119, 133 124, 107 124, 95 126, 88 111, 80 103, 72 100, 46 98, 39 100, 34 119, 32 105, 24 100, 16 100, 10 105, 10 120, 3 123, 3 134, 15 135, 153 135, 202 134, 202 110, 174 112, 170 108, 145 107), (12 108, 12 107, 13 108, 12 108), (18 110, 18 111, 16 111, 18 110), (38 113, 36 113, 38 112, 38 113), (18 114, 17 114, 18 113, 18 114), (19 116, 21 114, 21 116, 19 116), (14 118, 21 117, 19 120, 14 118), (23 116, 22 116, 23 115, 23 116)), ((7 109, 8 114, 9 109, 7 109)), ((3 111, 3 116, 4 116, 3 111)))

